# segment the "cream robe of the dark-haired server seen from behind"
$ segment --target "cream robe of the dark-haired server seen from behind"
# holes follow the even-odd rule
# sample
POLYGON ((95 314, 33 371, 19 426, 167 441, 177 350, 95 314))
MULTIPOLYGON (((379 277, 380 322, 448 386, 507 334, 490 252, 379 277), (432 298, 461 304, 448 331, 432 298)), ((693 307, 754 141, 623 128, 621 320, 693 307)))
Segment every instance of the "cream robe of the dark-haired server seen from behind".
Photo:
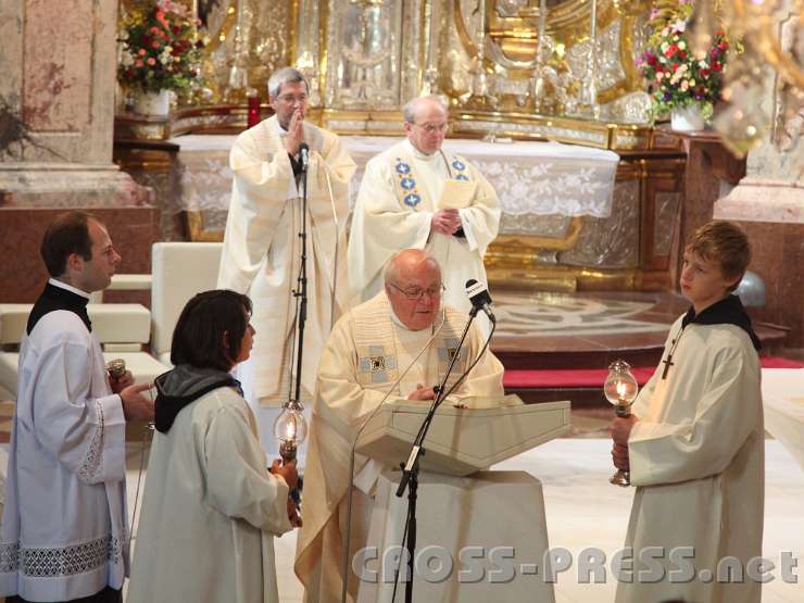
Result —
POLYGON ((215 389, 151 447, 127 603, 277 603, 288 487, 265 469, 246 400, 215 389))

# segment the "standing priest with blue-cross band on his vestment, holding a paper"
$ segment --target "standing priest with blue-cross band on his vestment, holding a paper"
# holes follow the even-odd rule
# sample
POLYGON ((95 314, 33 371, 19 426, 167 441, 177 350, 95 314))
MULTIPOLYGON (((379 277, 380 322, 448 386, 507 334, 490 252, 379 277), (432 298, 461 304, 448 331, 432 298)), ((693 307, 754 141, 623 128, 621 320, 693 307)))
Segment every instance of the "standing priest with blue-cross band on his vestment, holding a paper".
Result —
MULTIPOLYGON (((447 108, 438 97, 405 105, 407 139, 366 164, 349 239, 349 278, 365 301, 382 289, 382 267, 397 251, 426 249, 444 274, 443 300, 468 313, 466 281, 486 281, 483 255, 497 237, 500 202, 480 172, 444 153, 447 108), (439 209, 445 186, 461 209, 439 209)), ((485 316, 479 324, 488 332, 485 316)))

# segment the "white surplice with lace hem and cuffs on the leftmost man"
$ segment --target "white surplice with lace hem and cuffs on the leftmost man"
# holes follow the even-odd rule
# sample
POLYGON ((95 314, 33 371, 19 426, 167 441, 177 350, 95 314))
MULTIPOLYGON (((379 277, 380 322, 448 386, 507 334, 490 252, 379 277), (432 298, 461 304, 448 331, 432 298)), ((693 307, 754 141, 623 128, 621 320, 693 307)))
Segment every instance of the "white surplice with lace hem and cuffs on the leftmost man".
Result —
POLYGON ((67 601, 122 588, 125 493, 125 417, 101 347, 76 314, 50 312, 20 349, 0 594, 67 601))

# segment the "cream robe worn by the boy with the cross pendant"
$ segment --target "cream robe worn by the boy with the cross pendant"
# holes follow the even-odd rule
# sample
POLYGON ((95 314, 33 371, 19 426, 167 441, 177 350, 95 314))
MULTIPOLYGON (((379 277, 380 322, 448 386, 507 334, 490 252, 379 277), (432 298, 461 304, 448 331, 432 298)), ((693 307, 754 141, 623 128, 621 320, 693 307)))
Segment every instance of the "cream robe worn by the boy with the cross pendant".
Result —
MULTIPOLYGON (((664 359, 679 336, 670 328, 664 359)), ((661 364, 633 405, 639 417, 628 440, 637 487, 626 547, 633 548, 633 583, 619 582, 618 603, 683 601, 758 602, 759 585, 718 583, 727 556, 746 563, 762 554, 765 435, 759 362, 749 335, 730 324, 690 324, 673 353, 666 379, 661 364), (663 580, 639 581, 640 554, 664 547, 663 580), (695 576, 674 580, 674 548, 694 548, 695 576)), ((679 550, 679 554, 680 554, 679 550)))

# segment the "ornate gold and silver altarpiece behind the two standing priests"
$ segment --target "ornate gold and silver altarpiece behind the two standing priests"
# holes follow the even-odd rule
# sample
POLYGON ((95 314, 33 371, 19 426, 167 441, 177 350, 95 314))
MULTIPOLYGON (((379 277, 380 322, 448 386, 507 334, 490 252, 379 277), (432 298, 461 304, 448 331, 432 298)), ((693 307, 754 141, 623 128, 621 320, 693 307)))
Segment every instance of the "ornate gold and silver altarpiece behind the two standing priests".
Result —
POLYGON ((407 100, 439 93, 452 135, 650 146, 633 66, 646 0, 185 1, 209 40, 205 104, 264 96, 271 72, 293 64, 313 117, 342 134, 398 134, 407 100))

